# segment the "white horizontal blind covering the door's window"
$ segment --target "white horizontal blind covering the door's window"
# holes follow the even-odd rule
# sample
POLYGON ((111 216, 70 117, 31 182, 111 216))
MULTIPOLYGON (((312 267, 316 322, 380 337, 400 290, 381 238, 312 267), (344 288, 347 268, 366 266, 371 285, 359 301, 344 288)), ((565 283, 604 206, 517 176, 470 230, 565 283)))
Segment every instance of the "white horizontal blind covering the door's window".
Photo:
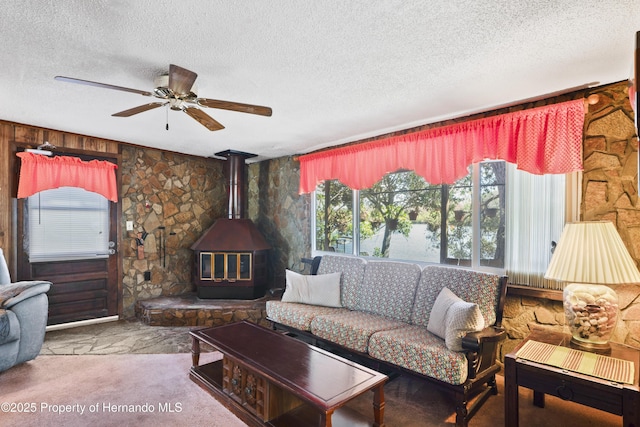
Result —
POLYGON ((27 201, 30 262, 108 256, 109 201, 81 188, 41 191, 27 201))

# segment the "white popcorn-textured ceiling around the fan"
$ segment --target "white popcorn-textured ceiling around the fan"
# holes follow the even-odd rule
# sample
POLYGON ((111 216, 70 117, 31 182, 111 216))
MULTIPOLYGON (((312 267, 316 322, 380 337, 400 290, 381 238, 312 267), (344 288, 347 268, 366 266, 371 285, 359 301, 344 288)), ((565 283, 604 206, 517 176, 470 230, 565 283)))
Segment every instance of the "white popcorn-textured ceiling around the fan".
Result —
POLYGON ((628 79, 640 0, 0 0, 0 120, 199 156, 310 152, 519 100, 628 79), (203 108, 111 114, 154 98, 169 64, 203 108), (166 121, 169 130, 165 130, 166 121))

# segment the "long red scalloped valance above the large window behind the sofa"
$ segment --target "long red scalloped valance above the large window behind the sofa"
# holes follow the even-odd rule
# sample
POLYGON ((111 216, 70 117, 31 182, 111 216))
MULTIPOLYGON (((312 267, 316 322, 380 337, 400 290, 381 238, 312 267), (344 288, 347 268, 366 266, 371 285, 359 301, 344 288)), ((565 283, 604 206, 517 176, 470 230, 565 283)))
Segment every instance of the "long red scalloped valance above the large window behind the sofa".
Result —
POLYGON ((431 184, 452 184, 486 159, 537 175, 582 170, 584 108, 578 99, 302 155, 300 194, 327 179, 369 188, 399 169, 431 184))

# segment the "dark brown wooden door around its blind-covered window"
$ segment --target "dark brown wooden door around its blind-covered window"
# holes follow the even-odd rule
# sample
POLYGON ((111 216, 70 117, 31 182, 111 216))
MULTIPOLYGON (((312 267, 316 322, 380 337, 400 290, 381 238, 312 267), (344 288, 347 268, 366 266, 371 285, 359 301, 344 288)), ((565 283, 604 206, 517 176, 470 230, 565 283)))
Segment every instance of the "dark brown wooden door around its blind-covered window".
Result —
MULTIPOLYGON (((117 158, 74 155, 83 160, 98 159, 118 163, 117 158)), ((47 293, 49 325, 118 314, 120 306, 118 210, 119 204, 108 202, 109 243, 106 251, 82 259, 32 262, 29 259, 28 247, 30 238, 28 201, 27 199, 18 200, 18 280, 47 280, 53 283, 47 293)))

